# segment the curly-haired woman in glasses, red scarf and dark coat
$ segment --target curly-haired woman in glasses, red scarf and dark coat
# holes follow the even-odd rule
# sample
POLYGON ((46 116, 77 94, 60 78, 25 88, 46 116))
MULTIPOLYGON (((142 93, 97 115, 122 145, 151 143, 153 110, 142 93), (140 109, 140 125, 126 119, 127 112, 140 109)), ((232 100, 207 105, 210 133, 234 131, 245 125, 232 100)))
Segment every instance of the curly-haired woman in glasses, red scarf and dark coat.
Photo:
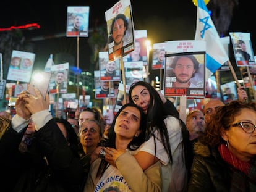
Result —
POLYGON ((189 191, 256 191, 256 104, 232 101, 195 144, 189 191))

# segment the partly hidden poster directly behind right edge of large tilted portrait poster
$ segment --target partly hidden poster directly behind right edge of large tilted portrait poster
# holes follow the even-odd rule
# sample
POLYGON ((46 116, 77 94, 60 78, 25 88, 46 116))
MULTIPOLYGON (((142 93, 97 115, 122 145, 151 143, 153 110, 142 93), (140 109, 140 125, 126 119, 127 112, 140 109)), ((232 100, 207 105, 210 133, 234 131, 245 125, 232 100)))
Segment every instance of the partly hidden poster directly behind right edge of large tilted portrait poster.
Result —
POLYGON ((135 30, 134 36, 134 51, 124 56, 123 61, 143 61, 143 65, 148 65, 147 30, 135 30))

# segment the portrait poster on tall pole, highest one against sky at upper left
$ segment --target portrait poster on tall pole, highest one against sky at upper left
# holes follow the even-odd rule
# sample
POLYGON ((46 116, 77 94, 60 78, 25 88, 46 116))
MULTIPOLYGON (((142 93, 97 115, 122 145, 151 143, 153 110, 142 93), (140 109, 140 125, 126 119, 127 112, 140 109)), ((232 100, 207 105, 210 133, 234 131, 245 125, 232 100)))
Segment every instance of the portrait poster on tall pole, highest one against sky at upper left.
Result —
POLYGON ((89 7, 67 7, 67 31, 66 36, 89 36, 89 7))

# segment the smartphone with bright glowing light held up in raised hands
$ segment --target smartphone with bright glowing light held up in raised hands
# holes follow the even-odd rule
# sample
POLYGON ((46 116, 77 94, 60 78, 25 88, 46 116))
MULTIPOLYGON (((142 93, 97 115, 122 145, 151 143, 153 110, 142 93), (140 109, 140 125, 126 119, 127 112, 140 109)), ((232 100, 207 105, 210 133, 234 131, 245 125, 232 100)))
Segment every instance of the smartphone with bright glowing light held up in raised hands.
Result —
POLYGON ((50 79, 51 79, 50 72, 43 72, 43 71, 35 70, 32 74, 32 78, 30 80, 28 92, 30 94, 33 94, 33 96, 36 96, 35 90, 33 89, 33 86, 35 86, 36 88, 38 88, 38 90, 42 94, 43 98, 45 98, 46 93, 49 88, 50 79))

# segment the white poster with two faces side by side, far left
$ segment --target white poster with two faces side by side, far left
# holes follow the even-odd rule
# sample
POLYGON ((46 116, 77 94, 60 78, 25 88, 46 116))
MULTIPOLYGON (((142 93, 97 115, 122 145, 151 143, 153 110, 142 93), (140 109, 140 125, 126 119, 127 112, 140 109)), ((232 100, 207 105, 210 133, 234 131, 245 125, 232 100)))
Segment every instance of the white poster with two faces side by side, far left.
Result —
POLYGON ((13 50, 7 80, 28 83, 32 75, 34 61, 34 53, 13 50))

